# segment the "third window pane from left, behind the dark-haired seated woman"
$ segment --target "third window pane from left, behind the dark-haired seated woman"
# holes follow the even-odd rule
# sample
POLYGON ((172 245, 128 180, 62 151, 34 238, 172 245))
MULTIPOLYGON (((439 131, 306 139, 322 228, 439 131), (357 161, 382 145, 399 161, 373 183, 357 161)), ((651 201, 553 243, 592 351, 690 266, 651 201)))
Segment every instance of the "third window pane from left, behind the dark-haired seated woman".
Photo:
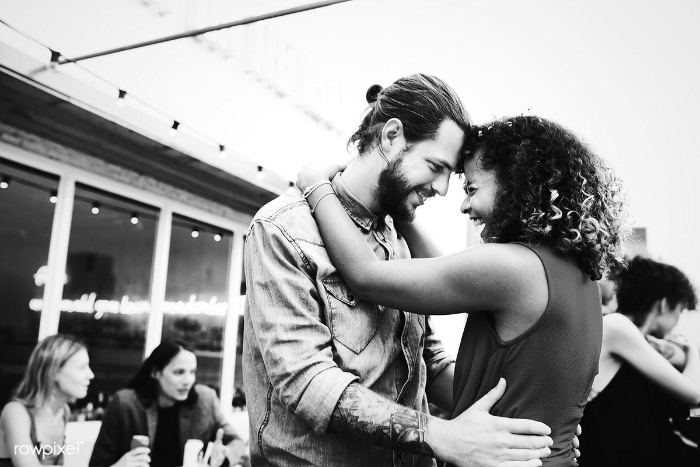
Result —
POLYGON ((197 355, 197 381, 219 391, 233 233, 173 215, 163 340, 197 355))

